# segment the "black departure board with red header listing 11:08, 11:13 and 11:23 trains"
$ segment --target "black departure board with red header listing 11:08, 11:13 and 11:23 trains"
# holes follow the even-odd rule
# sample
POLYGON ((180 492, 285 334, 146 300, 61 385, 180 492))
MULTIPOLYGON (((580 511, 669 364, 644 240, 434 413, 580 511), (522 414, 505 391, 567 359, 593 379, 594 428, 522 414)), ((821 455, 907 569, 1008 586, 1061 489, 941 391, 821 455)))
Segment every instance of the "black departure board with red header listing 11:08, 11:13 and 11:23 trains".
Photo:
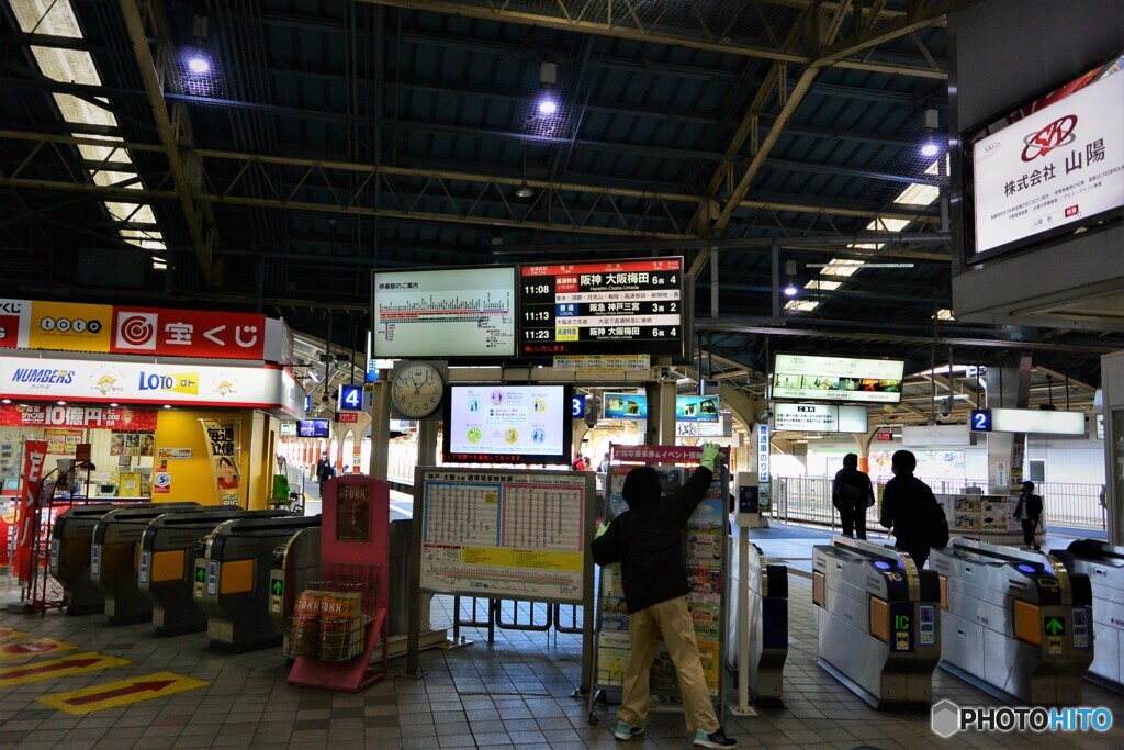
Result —
POLYGON ((683 259, 523 265, 519 315, 524 356, 680 356, 683 259))

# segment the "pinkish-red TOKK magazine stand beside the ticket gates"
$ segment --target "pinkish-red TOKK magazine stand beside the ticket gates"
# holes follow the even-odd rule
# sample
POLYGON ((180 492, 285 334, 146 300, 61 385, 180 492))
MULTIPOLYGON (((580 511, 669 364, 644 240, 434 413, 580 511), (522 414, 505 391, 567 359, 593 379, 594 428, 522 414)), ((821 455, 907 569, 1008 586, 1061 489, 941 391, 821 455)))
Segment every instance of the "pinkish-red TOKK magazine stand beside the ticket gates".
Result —
POLYGON ((361 593, 365 640, 357 656, 327 661, 297 657, 289 684, 357 693, 387 676, 390 603, 390 486, 363 475, 339 477, 324 485, 320 576, 333 590, 361 593), (381 661, 371 657, 382 643, 381 661))

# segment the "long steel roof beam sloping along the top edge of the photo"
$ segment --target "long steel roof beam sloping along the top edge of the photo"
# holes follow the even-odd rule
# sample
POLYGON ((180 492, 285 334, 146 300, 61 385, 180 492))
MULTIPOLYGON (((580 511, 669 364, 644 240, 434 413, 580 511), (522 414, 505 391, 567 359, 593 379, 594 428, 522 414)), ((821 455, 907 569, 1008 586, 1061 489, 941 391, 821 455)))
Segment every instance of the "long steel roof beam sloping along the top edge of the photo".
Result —
MULTIPOLYGON (((650 44, 667 44, 677 47, 689 47, 692 49, 704 49, 706 52, 717 52, 740 57, 758 57, 761 60, 772 60, 778 62, 796 63, 799 65, 810 65, 815 62, 813 57, 780 49, 769 49, 750 45, 741 45, 724 38, 706 38, 705 28, 696 29, 698 37, 681 34, 669 34, 644 27, 636 20, 636 16, 631 13, 632 6, 624 0, 608 0, 615 13, 611 13, 605 21, 590 20, 586 17, 586 11, 592 3, 586 3, 578 10, 577 15, 571 15, 563 2, 555 2, 555 13, 550 12, 550 8, 543 10, 515 10, 509 7, 508 0, 484 0, 482 3, 455 2, 452 0, 363 0, 379 6, 391 6, 425 12, 445 13, 450 16, 461 16, 478 20, 500 21, 507 24, 519 24, 524 26, 542 26, 563 31, 578 31, 581 34, 597 34, 600 36, 611 36, 633 42, 645 42, 650 44)), ((686 31, 687 29, 685 29, 686 31)), ((886 38, 892 38, 887 36, 886 38)), ((885 40, 885 39, 883 39, 885 40)), ((918 78, 946 79, 944 71, 933 71, 926 67, 913 67, 909 65, 892 65, 867 61, 843 60, 846 54, 840 54, 832 63, 841 67, 851 67, 876 73, 887 73, 890 75, 914 75, 918 78)))

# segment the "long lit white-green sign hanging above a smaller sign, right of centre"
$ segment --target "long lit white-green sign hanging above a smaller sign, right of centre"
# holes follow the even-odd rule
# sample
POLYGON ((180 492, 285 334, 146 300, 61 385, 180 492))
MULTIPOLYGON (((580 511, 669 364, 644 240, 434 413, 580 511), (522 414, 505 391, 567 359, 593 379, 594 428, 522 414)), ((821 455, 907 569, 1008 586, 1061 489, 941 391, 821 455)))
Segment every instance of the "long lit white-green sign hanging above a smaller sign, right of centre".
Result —
POLYGON ((904 371, 901 360, 778 354, 773 363, 772 397, 897 404, 901 400, 904 371))

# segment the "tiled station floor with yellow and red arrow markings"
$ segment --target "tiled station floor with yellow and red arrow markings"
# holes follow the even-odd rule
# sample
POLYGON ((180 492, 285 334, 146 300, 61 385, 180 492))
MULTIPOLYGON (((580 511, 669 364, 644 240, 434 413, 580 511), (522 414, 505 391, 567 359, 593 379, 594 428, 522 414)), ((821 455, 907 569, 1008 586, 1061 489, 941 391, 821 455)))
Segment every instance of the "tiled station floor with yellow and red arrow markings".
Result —
MULTIPOLYGON (((754 530, 751 539, 792 573, 790 648, 783 705, 759 707, 750 717, 726 713, 726 732, 738 747, 1124 747, 1124 696, 1088 681, 1084 705, 1108 707, 1114 715, 1113 728, 1103 734, 959 733, 942 740, 931 731, 928 711, 870 708, 816 666, 812 548, 830 533, 774 524, 754 530)), ((1070 540, 1048 541, 1064 546, 1070 540)), ((0 589, 0 602, 16 598, 18 590, 0 589)), ((434 602, 434 627, 448 626, 452 599, 434 602)), ((497 630, 489 645, 484 631, 461 633, 474 643, 422 653, 424 678, 398 676, 405 668, 405 659, 398 659, 391 662, 391 678, 343 694, 290 687, 278 648, 229 654, 210 650, 201 633, 157 636, 151 623, 116 626, 99 616, 0 609, 0 748, 690 747, 678 713, 653 712, 646 733, 627 743, 613 738, 613 705, 598 706, 599 722, 590 725, 587 699, 570 696, 581 676, 579 636, 497 630), (12 636, 6 629, 27 635, 12 636), (52 643, 73 648, 58 651, 52 643)), ((934 701, 997 703, 940 669, 933 680, 934 701)), ((727 680, 727 705, 736 702, 733 683, 727 680)))

